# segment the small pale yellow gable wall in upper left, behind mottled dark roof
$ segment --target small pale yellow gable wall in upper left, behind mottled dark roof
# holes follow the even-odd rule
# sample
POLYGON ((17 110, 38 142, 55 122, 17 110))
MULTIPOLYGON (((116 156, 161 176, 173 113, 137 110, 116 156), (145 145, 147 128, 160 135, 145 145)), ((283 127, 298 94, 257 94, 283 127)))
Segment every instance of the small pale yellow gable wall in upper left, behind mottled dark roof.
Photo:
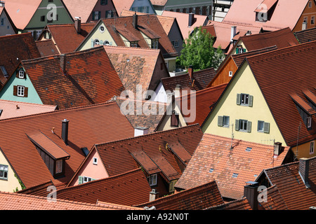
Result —
POLYGON ((100 27, 105 27, 102 20, 98 23, 98 25, 91 31, 90 34, 88 34, 87 38, 79 45, 78 50, 87 50, 90 48, 93 48, 93 41, 98 39, 99 41, 102 41, 101 43, 104 43, 105 41, 108 41, 110 45, 117 46, 114 39, 110 35, 109 31, 107 31, 107 28, 102 32, 100 31, 100 27))

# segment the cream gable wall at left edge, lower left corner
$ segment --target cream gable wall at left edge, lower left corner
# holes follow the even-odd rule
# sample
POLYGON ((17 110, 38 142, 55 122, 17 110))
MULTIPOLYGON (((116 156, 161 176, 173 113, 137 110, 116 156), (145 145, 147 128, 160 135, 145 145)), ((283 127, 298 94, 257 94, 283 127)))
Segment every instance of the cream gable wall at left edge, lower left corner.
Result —
POLYGON ((14 172, 12 167, 8 164, 8 161, 4 157, 4 155, 0 152, 0 165, 8 166, 8 179, 3 180, 0 179, 0 190, 6 192, 13 192, 13 190, 22 190, 18 179, 14 176, 14 172))

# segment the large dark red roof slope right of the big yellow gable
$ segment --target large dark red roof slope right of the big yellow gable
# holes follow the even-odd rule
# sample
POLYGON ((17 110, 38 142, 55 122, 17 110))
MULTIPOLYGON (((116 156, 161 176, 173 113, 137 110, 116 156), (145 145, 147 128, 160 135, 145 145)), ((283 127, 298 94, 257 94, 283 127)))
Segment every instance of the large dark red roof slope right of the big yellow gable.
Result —
POLYGON ((298 94, 305 99, 305 90, 316 94, 315 52, 316 41, 312 41, 246 58, 288 146, 296 146, 298 137, 293 130, 300 123, 298 144, 316 138, 316 125, 312 125, 312 130, 303 125, 305 121, 290 97, 298 94))

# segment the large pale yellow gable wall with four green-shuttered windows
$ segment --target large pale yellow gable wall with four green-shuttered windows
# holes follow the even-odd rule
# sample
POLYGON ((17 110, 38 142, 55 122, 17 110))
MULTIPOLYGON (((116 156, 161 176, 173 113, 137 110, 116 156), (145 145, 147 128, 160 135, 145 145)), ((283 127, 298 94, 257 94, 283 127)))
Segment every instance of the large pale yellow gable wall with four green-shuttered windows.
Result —
POLYGON ((273 140, 279 141, 285 146, 285 141, 282 137, 277 124, 275 123, 268 104, 263 98, 258 84, 251 72, 247 62, 241 69, 235 73, 235 78, 228 86, 228 89, 223 94, 223 97, 216 105, 216 108, 211 113, 211 116, 202 127, 202 131, 209 134, 216 134, 223 137, 232 137, 242 139, 244 141, 252 141, 259 144, 272 145, 273 140), (237 105, 237 93, 250 94, 254 96, 253 106, 237 105), (230 116, 230 127, 219 127, 218 116, 230 116), (235 130, 235 120, 243 119, 251 121, 251 132, 241 132, 235 130), (263 120, 265 123, 270 123, 270 133, 258 132, 258 120, 263 120))

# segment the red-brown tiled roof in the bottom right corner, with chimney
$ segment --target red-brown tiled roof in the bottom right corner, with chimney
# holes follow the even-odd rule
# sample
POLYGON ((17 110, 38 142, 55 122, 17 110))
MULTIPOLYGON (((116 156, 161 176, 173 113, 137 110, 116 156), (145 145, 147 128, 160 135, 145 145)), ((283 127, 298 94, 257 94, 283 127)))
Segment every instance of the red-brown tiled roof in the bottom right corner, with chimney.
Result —
MULTIPOLYGON (((306 188, 301 175, 298 173, 299 161, 264 170, 270 184, 276 186, 277 188, 275 188, 275 190, 278 190, 277 197, 270 196, 277 202, 279 200, 279 195, 281 195, 285 206, 289 210, 307 210, 309 207, 315 207, 316 188, 312 183, 315 183, 316 180, 316 157, 310 158, 307 161, 309 162, 308 181, 310 183, 310 188, 306 188)), ((268 188, 268 193, 271 193, 271 190, 271 188, 268 188)), ((271 202, 268 201, 268 203, 269 204, 266 204, 264 207, 273 209, 273 207, 269 207, 271 202)), ((284 204, 277 204, 277 206, 282 206, 282 208, 284 208, 284 204)))

